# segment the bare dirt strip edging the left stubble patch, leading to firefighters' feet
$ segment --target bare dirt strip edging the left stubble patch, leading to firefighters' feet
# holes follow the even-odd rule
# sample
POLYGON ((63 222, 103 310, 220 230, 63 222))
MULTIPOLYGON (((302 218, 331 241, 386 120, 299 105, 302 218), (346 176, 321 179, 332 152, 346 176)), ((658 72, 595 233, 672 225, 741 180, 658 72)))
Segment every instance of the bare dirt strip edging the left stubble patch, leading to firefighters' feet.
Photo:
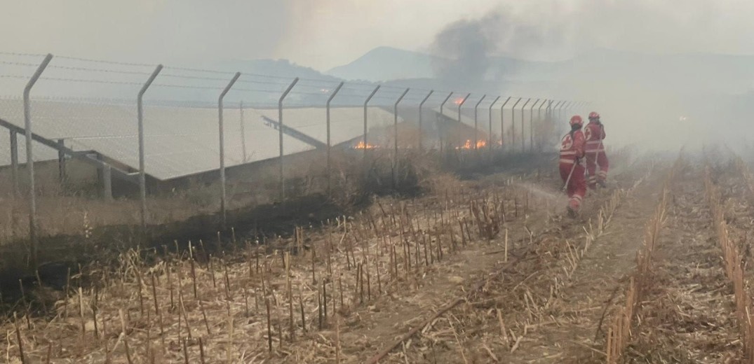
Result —
MULTIPOLYGON (((604 199, 605 196, 599 196, 594 200, 604 199)), ((562 216, 550 214, 546 205, 538 204, 532 207, 530 214, 507 223, 510 263, 504 262, 505 238, 501 233, 493 241, 475 243, 449 257, 442 265, 432 266, 421 278, 414 278, 400 295, 388 296, 372 302, 366 310, 354 312, 354 320, 348 320, 341 333, 343 353, 349 362, 365 361, 398 336, 423 323, 441 306, 463 296, 492 272, 505 269, 510 272, 511 281, 523 281, 536 265, 517 265, 513 261, 526 259, 532 247, 530 241, 538 241, 564 226, 562 216)), ((594 210, 584 211, 585 216, 593 215, 594 210)), ((577 224, 566 220, 566 226, 569 224, 573 225, 571 229, 576 229, 577 224)))

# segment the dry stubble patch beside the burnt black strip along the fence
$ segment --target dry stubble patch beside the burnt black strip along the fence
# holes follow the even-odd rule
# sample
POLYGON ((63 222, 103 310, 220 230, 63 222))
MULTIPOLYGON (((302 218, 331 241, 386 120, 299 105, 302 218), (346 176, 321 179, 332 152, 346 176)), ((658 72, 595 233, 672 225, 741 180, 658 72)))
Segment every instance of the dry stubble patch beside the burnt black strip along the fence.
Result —
POLYGON ((11 333, 18 325, 19 338, 3 331, 0 353, 8 362, 19 362, 22 347, 26 362, 48 352, 51 362, 330 362, 337 352, 348 362, 354 353, 339 349, 339 332, 359 326, 360 312, 420 289, 438 263, 480 241, 470 206, 489 206, 499 223, 501 211, 509 220, 525 213, 515 187, 444 192, 419 203, 379 199, 324 229, 268 246, 247 241, 227 255, 210 256, 201 241, 156 265, 123 253, 114 271, 90 267, 97 283, 67 290, 54 317, 21 312, 5 323, 11 333))

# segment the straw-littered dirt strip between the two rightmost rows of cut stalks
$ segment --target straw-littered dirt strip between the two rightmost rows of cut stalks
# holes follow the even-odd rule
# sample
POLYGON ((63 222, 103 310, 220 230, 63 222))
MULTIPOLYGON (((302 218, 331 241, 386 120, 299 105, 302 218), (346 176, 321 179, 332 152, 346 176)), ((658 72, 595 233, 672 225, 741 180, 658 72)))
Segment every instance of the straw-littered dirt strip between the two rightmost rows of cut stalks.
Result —
POLYGON ((733 293, 703 190, 703 168, 685 168, 653 257, 651 290, 627 362, 734 362, 740 332, 733 293))

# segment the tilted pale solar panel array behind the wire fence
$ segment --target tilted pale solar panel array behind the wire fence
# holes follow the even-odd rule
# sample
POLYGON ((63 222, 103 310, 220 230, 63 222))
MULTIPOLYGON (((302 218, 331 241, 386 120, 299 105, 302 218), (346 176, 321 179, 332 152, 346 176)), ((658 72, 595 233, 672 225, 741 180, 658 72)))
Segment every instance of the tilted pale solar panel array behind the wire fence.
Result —
MULTIPOLYGON (((224 110, 225 165, 242 165, 279 156, 278 131, 262 117, 277 121, 277 109, 224 110), (242 121, 243 120, 243 121, 242 121), (241 125, 243 123, 243 126, 241 125)), ((369 125, 393 123, 382 108, 369 108, 369 125)), ((0 119, 23 127, 23 102, 0 99, 0 119)), ((402 121, 402 120, 401 120, 402 121)), ((32 100, 35 134, 63 139, 72 150, 93 150, 136 169, 139 165, 136 105, 123 103, 32 100)), ((325 108, 288 108, 284 125, 326 142, 325 108)), ((219 128, 216 108, 146 106, 144 110, 146 173, 169 180, 219 168, 219 128)), ((340 144, 363 134, 362 108, 331 110, 331 142, 340 144)), ((23 136, 19 136, 19 159, 26 161, 23 136)), ((284 135, 284 153, 313 150, 314 146, 284 135)), ((57 151, 35 144, 35 160, 55 159, 57 151)), ((0 163, 10 164, 10 139, 0 138, 0 163)))

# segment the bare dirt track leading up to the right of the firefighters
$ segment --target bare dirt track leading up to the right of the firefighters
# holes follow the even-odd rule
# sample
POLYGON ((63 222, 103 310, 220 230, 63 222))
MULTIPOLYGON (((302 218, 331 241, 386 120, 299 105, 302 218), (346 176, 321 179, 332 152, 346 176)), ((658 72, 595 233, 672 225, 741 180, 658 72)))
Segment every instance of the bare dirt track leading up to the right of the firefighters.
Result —
POLYGON ((657 205, 664 171, 655 171, 623 202, 548 312, 552 323, 532 330, 501 362, 604 362, 606 306, 633 272, 642 232, 657 205), (604 321, 604 322, 601 322, 604 321), (599 329, 599 332, 598 332, 599 329))

